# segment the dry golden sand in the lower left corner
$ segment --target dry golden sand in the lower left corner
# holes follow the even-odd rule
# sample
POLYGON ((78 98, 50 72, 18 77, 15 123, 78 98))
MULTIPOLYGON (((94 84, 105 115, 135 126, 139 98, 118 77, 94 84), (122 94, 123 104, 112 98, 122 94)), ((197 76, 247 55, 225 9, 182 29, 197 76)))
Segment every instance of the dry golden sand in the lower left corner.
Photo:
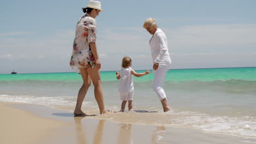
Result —
POLYGON ((40 118, 30 112, 0 103, 0 143, 39 143, 50 139, 55 129, 66 122, 40 118))

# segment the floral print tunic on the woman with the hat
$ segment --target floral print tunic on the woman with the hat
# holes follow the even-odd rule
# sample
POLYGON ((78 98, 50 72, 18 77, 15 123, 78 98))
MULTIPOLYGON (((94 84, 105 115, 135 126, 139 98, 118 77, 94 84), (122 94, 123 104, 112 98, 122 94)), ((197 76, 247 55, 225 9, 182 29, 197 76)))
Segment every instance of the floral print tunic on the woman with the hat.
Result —
POLYGON ((80 74, 79 68, 96 68, 95 58, 89 43, 96 43, 96 20, 88 14, 80 17, 75 28, 73 52, 69 64, 80 74))

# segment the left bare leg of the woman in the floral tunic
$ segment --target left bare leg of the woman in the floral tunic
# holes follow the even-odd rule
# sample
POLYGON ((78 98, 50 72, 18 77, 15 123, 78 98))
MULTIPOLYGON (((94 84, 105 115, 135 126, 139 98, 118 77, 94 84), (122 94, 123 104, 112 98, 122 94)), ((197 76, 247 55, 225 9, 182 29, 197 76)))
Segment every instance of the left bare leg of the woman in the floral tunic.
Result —
POLYGON ((81 108, 84 101, 84 97, 88 91, 88 88, 91 85, 91 79, 86 69, 80 68, 80 74, 83 78, 83 86, 80 88, 78 92, 77 105, 75 105, 74 115, 85 115, 81 108))

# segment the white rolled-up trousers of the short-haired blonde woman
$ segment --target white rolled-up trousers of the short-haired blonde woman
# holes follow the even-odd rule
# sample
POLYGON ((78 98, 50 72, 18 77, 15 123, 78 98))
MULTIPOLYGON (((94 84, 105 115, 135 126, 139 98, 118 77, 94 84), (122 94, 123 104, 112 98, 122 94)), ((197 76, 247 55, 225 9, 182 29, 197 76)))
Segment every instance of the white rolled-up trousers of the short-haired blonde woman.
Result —
POLYGON ((161 68, 158 68, 155 70, 155 76, 153 81, 153 91, 158 95, 158 98, 160 100, 166 98, 166 94, 164 91, 164 81, 165 81, 165 75, 167 71, 169 70, 169 67, 167 65, 161 65, 161 68))

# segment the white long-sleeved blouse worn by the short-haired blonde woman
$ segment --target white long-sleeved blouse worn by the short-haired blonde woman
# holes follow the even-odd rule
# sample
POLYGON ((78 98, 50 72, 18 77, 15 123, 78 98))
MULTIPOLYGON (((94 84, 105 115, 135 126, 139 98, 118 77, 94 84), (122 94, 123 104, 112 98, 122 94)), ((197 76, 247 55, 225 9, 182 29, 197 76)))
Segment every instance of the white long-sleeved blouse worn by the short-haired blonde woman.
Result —
POLYGON ((170 67, 172 62, 168 52, 166 35, 160 28, 156 29, 149 40, 149 45, 153 63, 159 63, 159 68, 161 65, 168 65, 170 67))

